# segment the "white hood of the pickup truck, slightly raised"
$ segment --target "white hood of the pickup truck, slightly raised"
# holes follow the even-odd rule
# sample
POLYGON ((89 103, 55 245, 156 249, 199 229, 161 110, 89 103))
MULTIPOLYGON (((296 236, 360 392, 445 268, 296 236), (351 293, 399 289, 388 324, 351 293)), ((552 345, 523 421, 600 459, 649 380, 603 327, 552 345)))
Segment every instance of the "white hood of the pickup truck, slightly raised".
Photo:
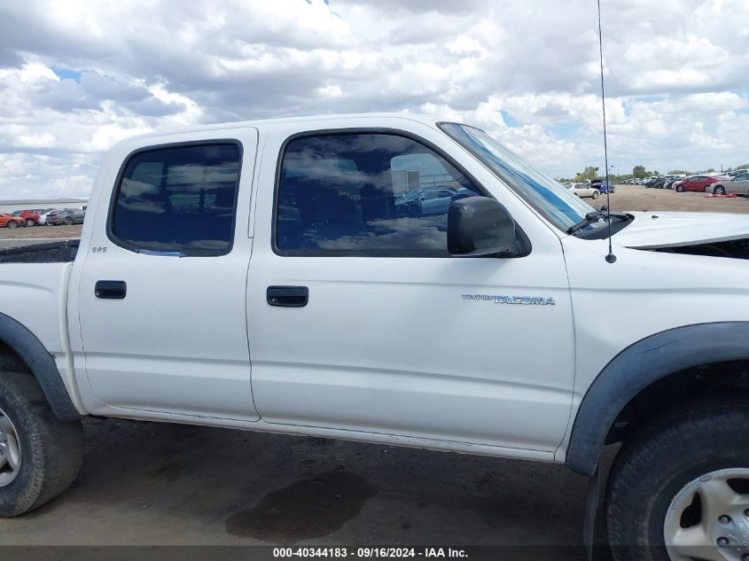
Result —
POLYGON ((749 238, 749 214, 628 214, 635 216, 635 220, 612 238, 617 244, 625 247, 679 247, 749 238))

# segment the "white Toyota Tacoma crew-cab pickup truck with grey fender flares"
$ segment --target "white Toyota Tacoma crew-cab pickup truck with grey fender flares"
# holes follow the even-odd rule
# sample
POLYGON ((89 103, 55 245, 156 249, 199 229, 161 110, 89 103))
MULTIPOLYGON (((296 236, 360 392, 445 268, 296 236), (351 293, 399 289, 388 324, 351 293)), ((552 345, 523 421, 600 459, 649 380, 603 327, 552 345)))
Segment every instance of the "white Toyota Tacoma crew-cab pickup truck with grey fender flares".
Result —
POLYGON ((622 442, 609 538, 653 547, 617 559, 745 559, 747 258, 747 215, 607 219, 455 122, 130 138, 80 244, 0 253, 0 514, 88 415, 558 462, 592 513, 622 442))

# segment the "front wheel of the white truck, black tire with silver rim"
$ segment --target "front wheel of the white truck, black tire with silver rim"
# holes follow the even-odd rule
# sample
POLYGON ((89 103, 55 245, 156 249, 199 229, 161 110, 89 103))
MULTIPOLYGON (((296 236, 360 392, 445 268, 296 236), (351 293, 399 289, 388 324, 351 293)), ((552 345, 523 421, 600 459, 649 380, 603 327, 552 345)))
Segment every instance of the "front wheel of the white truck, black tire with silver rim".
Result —
POLYGON ((617 561, 741 561, 749 543, 749 405, 672 409, 635 432, 609 475, 617 561))

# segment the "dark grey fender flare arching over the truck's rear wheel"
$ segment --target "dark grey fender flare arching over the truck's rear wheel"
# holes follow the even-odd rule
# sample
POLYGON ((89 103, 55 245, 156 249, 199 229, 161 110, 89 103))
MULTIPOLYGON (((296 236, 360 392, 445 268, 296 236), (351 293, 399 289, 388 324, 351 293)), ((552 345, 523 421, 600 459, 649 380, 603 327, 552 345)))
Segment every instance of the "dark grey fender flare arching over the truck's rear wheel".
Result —
POLYGON ((56 417, 61 421, 74 421, 82 417, 67 393, 54 357, 34 333, 12 317, 0 314, 0 341, 27 363, 56 417))

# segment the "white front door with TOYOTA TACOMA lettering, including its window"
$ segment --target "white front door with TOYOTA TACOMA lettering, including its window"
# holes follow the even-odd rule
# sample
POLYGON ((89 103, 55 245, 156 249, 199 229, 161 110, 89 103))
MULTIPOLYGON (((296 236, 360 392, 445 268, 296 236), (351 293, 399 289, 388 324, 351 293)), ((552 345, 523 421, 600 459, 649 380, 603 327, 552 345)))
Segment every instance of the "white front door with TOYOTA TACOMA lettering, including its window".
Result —
POLYGON ((456 198, 488 194, 431 130, 431 145, 381 129, 299 136, 280 169, 275 153, 261 169, 247 289, 255 403, 274 424, 550 454, 574 373, 559 239, 527 219, 527 256, 456 258, 448 205, 396 212, 402 170, 456 198))

